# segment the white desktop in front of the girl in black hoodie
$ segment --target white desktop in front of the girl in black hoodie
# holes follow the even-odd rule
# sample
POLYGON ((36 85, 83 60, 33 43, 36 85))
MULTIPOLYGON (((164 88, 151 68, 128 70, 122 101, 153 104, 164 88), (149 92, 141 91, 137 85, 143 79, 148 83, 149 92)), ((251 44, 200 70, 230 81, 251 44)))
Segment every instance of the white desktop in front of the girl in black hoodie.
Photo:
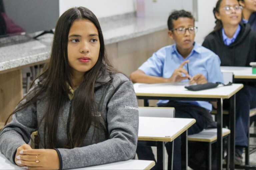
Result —
POLYGON ((252 74, 252 67, 229 67, 221 66, 221 72, 233 72, 234 78, 256 79, 256 74, 252 74))

